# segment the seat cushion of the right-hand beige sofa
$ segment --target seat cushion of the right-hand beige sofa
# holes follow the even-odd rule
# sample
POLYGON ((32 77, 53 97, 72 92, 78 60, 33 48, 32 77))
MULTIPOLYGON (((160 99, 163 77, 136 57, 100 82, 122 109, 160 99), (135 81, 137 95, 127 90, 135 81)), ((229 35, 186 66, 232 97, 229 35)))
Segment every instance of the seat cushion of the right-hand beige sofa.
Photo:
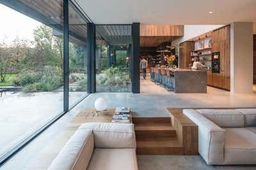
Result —
POLYGON ((225 130, 225 164, 256 164, 256 134, 246 128, 225 130))

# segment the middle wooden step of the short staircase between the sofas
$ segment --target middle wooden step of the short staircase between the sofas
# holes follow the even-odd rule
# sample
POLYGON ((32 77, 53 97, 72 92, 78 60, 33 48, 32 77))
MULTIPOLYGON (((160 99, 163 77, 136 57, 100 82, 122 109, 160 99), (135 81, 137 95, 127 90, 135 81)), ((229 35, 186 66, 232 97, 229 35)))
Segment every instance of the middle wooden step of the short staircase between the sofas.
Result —
POLYGON ((170 123, 135 124, 136 137, 175 137, 176 131, 170 123))

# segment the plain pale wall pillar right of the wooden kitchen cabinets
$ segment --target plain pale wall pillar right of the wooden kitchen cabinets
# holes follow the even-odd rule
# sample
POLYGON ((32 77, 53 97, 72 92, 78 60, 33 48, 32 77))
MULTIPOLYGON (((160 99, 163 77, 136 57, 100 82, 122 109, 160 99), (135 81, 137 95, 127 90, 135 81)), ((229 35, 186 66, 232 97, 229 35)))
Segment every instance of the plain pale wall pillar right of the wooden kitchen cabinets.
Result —
POLYGON ((234 22, 230 27, 230 92, 253 89, 253 23, 234 22))

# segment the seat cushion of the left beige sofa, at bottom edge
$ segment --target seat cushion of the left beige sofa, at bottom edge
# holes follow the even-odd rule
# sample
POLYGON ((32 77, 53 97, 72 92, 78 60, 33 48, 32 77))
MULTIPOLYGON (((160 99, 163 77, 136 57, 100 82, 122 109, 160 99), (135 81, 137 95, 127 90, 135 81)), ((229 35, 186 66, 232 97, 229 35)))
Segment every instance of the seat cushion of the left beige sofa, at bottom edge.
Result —
POLYGON ((95 148, 87 170, 136 170, 136 152, 133 148, 95 148))

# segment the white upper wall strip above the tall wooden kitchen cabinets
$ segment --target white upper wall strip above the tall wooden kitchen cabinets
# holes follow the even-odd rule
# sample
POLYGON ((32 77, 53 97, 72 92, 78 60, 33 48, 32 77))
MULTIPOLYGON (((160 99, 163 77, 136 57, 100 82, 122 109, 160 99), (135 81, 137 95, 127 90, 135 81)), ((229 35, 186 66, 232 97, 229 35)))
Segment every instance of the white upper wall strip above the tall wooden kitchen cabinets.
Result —
POLYGON ((223 25, 184 25, 184 36, 182 38, 176 39, 172 41, 173 46, 178 46, 179 43, 187 41, 188 39, 194 38, 196 36, 200 36, 205 32, 212 31, 223 25))

